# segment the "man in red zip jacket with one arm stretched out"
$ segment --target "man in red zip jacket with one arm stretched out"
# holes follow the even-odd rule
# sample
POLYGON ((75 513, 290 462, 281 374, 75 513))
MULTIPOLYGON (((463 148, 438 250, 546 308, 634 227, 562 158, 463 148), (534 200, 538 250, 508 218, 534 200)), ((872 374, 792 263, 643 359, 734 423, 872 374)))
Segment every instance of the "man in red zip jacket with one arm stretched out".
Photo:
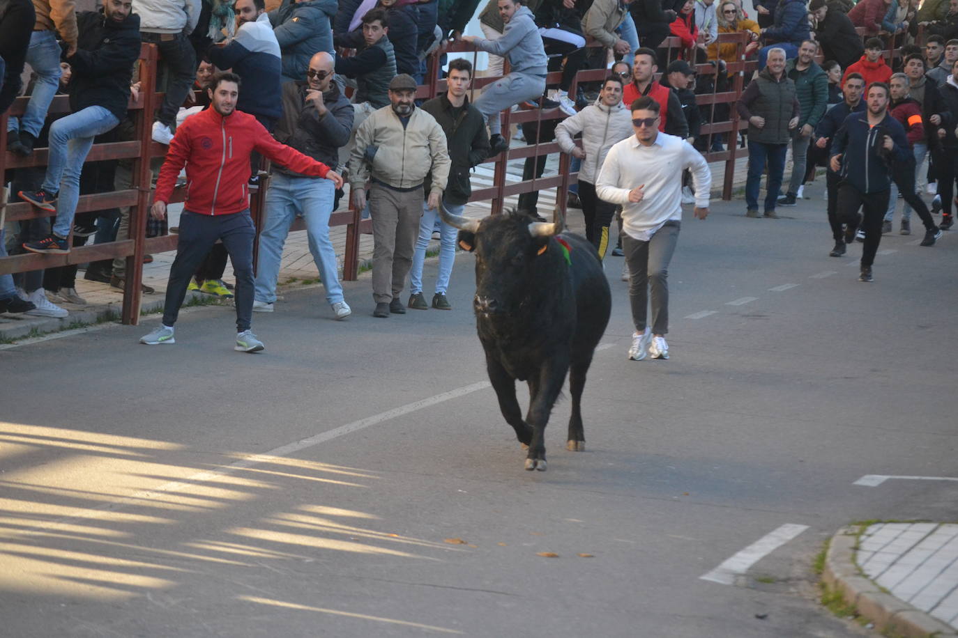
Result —
POLYGON ((143 337, 148 345, 174 343, 173 323, 186 297, 196 266, 210 248, 222 240, 237 277, 237 344, 240 352, 259 352, 262 341, 250 330, 253 316, 253 238, 256 230, 249 215, 249 156, 254 150, 277 164, 303 175, 343 186, 343 178, 330 167, 273 139, 253 116, 236 110, 239 76, 220 73, 208 89, 211 108, 197 113, 176 128, 170 152, 160 169, 150 214, 167 215, 167 203, 176 176, 186 165, 187 195, 180 215, 176 258, 170 268, 167 299, 160 326, 143 337))

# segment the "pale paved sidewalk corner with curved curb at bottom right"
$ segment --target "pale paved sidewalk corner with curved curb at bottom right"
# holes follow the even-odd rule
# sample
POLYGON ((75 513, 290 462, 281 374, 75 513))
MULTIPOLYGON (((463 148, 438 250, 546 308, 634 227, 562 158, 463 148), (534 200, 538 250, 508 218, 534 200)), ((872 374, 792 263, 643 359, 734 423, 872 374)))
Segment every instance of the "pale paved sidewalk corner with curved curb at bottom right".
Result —
POLYGON ((958 524, 878 522, 840 530, 822 580, 887 635, 958 636, 958 524))

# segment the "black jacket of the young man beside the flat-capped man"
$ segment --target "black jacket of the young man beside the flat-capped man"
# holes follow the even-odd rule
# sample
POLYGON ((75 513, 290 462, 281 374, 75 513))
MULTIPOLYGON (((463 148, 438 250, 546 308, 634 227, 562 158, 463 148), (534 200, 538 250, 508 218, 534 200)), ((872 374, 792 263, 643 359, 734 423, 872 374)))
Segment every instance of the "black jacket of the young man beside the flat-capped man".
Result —
POLYGON ((479 109, 469 103, 468 98, 463 103, 463 109, 459 110, 452 106, 445 93, 423 102, 422 110, 443 127, 448 145, 449 179, 444 199, 449 204, 466 204, 472 194, 469 169, 481 164, 489 156, 486 119, 479 109))

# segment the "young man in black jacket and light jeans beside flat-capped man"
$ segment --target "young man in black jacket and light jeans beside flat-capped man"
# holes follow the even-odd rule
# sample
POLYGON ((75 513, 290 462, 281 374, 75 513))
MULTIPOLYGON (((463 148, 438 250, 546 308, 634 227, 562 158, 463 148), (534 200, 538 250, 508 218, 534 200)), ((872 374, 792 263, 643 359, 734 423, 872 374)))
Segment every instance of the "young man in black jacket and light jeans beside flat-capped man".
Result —
MULTIPOLYGON (((448 90, 445 95, 430 99, 422 104, 422 110, 431 115, 443 127, 449 149, 449 181, 443 191, 443 203, 446 210, 454 215, 462 215, 469 195, 469 169, 481 163, 489 155, 489 137, 486 135, 486 122, 482 113, 469 103, 467 93, 472 83, 472 63, 465 58, 449 62, 448 90)), ((428 197, 428 191, 424 192, 428 197)), ((432 237, 436 220, 440 219, 439 208, 430 209, 427 202, 422 203, 419 240, 413 253, 413 265, 409 270, 409 303, 414 310, 428 310, 425 297, 422 297, 422 262, 425 261, 425 249, 432 237)), ((439 275, 436 277, 436 294, 432 297, 432 307, 437 310, 452 310, 445 297, 449 287, 449 275, 456 259, 456 234, 458 231, 441 221, 439 249, 439 275)))

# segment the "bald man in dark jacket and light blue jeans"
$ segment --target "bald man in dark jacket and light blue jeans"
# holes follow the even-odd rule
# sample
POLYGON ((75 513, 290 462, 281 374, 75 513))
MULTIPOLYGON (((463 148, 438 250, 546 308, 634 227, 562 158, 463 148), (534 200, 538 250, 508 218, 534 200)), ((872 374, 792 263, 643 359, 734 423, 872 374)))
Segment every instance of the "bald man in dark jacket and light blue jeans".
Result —
MULTIPOLYGON (((335 60, 326 52, 309 59, 306 77, 283 85, 283 117, 273 135, 301 153, 336 170, 339 147, 350 141, 353 105, 332 81, 335 60)), ((335 319, 351 314, 339 284, 336 252, 330 241, 330 214, 335 187, 324 180, 273 164, 266 193, 266 218, 260 233, 260 262, 256 275, 254 312, 273 312, 276 278, 283 244, 297 215, 306 220, 309 252, 316 262, 335 319)))

